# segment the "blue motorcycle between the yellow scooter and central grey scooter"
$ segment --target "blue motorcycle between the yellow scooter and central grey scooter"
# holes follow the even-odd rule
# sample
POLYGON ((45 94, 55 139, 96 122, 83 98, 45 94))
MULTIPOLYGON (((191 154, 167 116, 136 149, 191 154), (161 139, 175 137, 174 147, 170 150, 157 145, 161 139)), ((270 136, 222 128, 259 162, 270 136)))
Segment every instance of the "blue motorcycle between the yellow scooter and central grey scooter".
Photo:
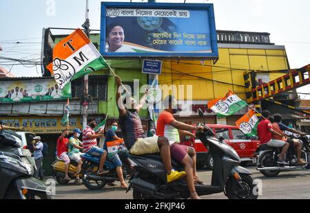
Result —
MULTIPOLYGON (((128 151, 119 151, 118 156, 123 162, 123 177, 124 179, 127 179, 127 176, 130 175, 130 168, 127 161, 128 151)), ((81 157, 83 160, 82 181, 85 187, 89 190, 100 190, 105 187, 105 185, 118 181, 116 165, 111 161, 105 160, 104 165, 104 169, 109 170, 110 172, 99 176, 97 172, 99 170, 100 157, 92 156, 90 154, 81 154, 81 157)))

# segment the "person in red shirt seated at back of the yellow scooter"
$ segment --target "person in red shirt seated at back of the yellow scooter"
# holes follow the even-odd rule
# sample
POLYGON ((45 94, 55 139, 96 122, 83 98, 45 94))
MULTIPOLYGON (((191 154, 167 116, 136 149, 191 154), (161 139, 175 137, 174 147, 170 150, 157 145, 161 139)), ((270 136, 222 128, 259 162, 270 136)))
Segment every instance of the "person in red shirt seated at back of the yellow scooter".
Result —
POLYGON ((70 158, 68 156, 68 143, 69 139, 66 136, 69 135, 68 128, 63 130, 61 136, 57 139, 57 157, 65 162, 65 180, 70 180, 68 176, 68 170, 70 165, 70 158))

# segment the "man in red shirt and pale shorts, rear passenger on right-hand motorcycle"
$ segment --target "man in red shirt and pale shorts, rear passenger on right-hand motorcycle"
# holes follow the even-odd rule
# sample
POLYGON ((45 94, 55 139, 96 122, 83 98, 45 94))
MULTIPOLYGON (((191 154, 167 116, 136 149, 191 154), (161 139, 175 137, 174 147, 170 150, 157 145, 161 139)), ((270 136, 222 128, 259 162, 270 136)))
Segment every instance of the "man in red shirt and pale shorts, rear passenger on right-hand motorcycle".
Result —
POLYGON ((273 139, 272 136, 276 135, 280 138, 285 136, 285 134, 276 132, 273 130, 272 123, 269 121, 270 118, 270 112, 265 110, 262 112, 262 116, 264 119, 258 123, 258 138, 260 139, 261 144, 266 144, 268 146, 271 146, 273 148, 282 148, 282 152, 279 156, 278 163, 284 163, 285 162, 285 154, 287 153, 287 150, 289 149, 289 143, 273 139))

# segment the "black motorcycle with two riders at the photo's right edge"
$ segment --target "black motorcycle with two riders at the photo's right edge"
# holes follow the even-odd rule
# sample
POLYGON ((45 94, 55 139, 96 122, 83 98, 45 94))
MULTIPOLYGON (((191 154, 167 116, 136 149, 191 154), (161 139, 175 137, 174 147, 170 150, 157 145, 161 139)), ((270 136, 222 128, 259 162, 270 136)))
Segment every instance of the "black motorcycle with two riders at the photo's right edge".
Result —
POLYGON ((302 136, 299 138, 292 138, 292 139, 300 139, 302 141, 301 158, 308 163, 307 165, 298 165, 295 149, 293 148, 293 142, 291 140, 288 140, 290 143, 290 148, 289 150, 287 150, 285 159, 287 165, 277 163, 282 148, 272 148, 268 145, 263 144, 260 145, 256 150, 256 152, 254 153, 254 155, 257 156, 256 169, 267 177, 278 176, 280 172, 309 170, 309 158, 310 158, 309 138, 307 136, 302 136))

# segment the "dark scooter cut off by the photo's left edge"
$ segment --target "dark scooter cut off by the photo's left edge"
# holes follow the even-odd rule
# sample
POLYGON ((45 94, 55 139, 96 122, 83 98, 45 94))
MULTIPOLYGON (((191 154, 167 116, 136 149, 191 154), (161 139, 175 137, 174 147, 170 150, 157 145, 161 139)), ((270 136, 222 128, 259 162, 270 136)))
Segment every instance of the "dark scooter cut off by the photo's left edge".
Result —
POLYGON ((21 149, 17 134, 1 129, 0 199, 50 199, 45 183, 32 177, 35 163, 29 150, 21 149))

